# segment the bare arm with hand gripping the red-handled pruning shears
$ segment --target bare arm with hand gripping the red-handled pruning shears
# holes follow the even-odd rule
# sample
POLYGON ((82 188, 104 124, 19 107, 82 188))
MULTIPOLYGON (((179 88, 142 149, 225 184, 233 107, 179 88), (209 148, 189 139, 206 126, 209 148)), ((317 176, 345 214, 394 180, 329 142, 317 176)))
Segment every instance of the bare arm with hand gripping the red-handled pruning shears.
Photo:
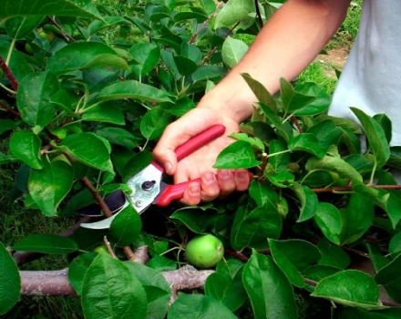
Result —
POLYGON ((233 190, 248 188, 246 171, 212 169, 221 149, 232 142, 227 135, 239 130, 239 123, 251 116, 256 102, 241 74, 251 74, 270 92, 276 92, 280 77, 293 79, 317 56, 344 20, 349 3, 350 0, 288 0, 262 28, 241 62, 200 100, 197 108, 164 131, 153 151, 155 158, 169 174, 174 174, 176 182, 201 177, 201 185, 191 183, 185 191, 184 202, 211 201, 233 190), (218 123, 225 125, 227 135, 177 165, 173 150, 218 123))

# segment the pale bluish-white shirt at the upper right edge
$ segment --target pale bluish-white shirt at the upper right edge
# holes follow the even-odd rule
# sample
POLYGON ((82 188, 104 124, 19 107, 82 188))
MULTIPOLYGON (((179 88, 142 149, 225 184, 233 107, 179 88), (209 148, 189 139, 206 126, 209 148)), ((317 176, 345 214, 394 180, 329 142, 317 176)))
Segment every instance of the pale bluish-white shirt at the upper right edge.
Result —
POLYGON ((385 113, 401 145, 401 0, 365 0, 355 44, 335 88, 330 114, 385 113))

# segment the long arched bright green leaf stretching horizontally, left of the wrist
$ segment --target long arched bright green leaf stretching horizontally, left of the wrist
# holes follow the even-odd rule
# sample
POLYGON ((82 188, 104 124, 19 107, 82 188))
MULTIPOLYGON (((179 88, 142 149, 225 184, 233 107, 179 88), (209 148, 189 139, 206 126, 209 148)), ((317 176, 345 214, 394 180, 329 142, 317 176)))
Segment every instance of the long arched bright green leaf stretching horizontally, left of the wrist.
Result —
POLYGON ((100 100, 133 98, 149 102, 171 102, 167 92, 136 80, 117 82, 104 87, 98 94, 98 98, 100 100))

